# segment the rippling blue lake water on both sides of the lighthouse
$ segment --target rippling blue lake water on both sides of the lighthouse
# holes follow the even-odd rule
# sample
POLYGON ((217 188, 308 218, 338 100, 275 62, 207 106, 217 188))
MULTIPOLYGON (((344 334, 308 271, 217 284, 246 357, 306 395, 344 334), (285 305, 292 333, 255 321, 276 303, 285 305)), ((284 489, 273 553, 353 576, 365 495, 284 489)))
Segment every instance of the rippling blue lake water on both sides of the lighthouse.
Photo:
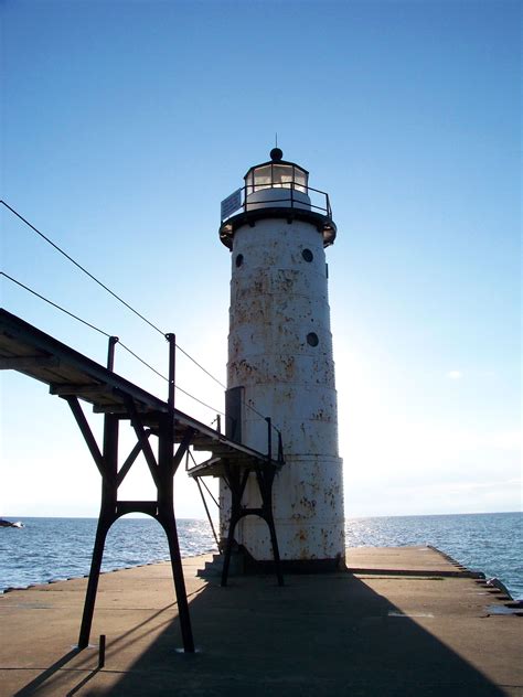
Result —
MULTIPOLYGON (((21 519, 0 528, 0 591, 88 573, 94 518, 21 519)), ((523 599, 523 514, 394 516, 346 519, 348 547, 433 545, 469 569, 499 578, 523 599)), ((178 521, 183 557, 215 551, 206 521, 178 521)), ((106 571, 169 558, 162 528, 151 518, 121 518, 109 532, 106 571)))

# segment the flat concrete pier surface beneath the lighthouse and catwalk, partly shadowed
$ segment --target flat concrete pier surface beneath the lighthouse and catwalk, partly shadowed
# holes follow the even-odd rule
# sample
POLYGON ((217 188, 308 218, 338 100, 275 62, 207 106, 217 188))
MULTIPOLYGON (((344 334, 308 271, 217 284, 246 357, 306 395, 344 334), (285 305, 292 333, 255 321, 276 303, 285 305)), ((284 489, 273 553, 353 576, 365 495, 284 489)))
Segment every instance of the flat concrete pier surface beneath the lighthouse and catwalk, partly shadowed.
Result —
POLYGON ((523 695, 523 618, 433 548, 350 549, 348 571, 282 588, 273 576, 221 588, 196 577, 209 559, 183 564, 195 654, 177 651, 168 564, 102 576, 81 652, 86 579, 0 596, 0 695, 523 695))

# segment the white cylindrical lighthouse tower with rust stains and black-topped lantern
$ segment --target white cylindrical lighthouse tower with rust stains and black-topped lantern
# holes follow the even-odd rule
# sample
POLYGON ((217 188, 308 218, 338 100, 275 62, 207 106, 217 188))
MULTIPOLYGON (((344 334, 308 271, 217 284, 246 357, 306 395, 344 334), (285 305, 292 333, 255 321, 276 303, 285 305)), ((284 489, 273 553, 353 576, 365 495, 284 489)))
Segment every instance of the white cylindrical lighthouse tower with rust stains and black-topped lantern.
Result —
MULTIPOLYGON (((344 562, 325 262, 337 226, 328 194, 310 187, 309 172, 282 156, 274 148, 222 203, 220 238, 232 259, 226 428, 260 452, 271 440, 281 444, 285 463, 271 497, 281 560, 287 568, 328 570, 344 562)), ((220 490, 225 536, 231 492, 223 480, 220 490)), ((254 475, 242 504, 259 505, 254 475)), ((252 561, 273 559, 259 517, 242 518, 234 537, 252 561)))

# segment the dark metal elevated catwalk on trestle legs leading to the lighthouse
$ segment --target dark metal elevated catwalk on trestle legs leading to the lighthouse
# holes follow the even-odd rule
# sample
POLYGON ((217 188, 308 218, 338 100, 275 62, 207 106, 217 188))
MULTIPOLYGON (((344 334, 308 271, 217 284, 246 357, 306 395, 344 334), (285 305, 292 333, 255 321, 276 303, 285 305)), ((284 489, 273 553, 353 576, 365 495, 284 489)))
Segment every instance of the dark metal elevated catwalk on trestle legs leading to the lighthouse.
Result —
POLYGON ((190 471, 194 478, 223 475, 233 491, 234 506, 225 548, 222 583, 227 580, 228 559, 234 541, 234 527, 243 515, 260 515, 269 526, 278 581, 281 583, 278 544, 271 513, 271 486, 275 473, 282 464, 281 452, 274 460, 270 452, 252 450, 174 408, 174 335, 170 342, 169 398, 154 397, 113 371, 116 337, 109 340, 107 366, 104 367, 71 346, 45 334, 10 312, 0 309, 0 367, 14 369, 45 383, 52 395, 65 399, 82 431, 93 460, 102 475, 102 505, 78 645, 89 642, 96 592, 107 533, 120 516, 145 513, 163 527, 169 543, 174 590, 179 607, 183 646, 194 651, 189 604, 183 579, 177 522, 173 507, 173 478, 189 448, 209 451, 211 460, 190 471), (104 419, 102 447, 98 446, 79 401, 87 401, 104 419), (130 421, 137 442, 127 458, 119 457, 119 423, 130 421), (157 453, 150 443, 158 439, 157 453), (142 453, 157 490, 156 501, 121 501, 118 487, 138 455, 142 453), (256 474, 264 505, 259 511, 246 511, 241 497, 250 472, 256 474))

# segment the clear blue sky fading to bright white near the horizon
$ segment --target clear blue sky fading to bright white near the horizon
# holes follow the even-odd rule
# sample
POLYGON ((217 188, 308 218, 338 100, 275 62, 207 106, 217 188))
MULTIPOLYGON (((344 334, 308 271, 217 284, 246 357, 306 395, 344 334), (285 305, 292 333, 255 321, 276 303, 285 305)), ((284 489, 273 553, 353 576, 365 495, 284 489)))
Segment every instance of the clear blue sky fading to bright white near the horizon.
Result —
MULTIPOLYGON (((220 202, 285 157, 331 195, 348 515, 521 506, 521 3, 3 0, 2 199, 225 380, 220 202)), ((167 347, 0 212, 2 268, 167 347)), ((106 341, 2 282, 2 305, 104 362, 106 341)), ((164 395, 124 352, 117 371, 164 395)), ((178 383, 223 408, 180 357, 178 383)), ((212 421, 183 395, 178 406, 212 421)), ((67 406, 2 376, 0 515, 96 515, 67 406)), ((92 419, 98 429, 96 418, 92 419)), ((143 497, 139 472, 128 495, 143 497)), ((203 516, 177 475, 177 511, 203 516)))

